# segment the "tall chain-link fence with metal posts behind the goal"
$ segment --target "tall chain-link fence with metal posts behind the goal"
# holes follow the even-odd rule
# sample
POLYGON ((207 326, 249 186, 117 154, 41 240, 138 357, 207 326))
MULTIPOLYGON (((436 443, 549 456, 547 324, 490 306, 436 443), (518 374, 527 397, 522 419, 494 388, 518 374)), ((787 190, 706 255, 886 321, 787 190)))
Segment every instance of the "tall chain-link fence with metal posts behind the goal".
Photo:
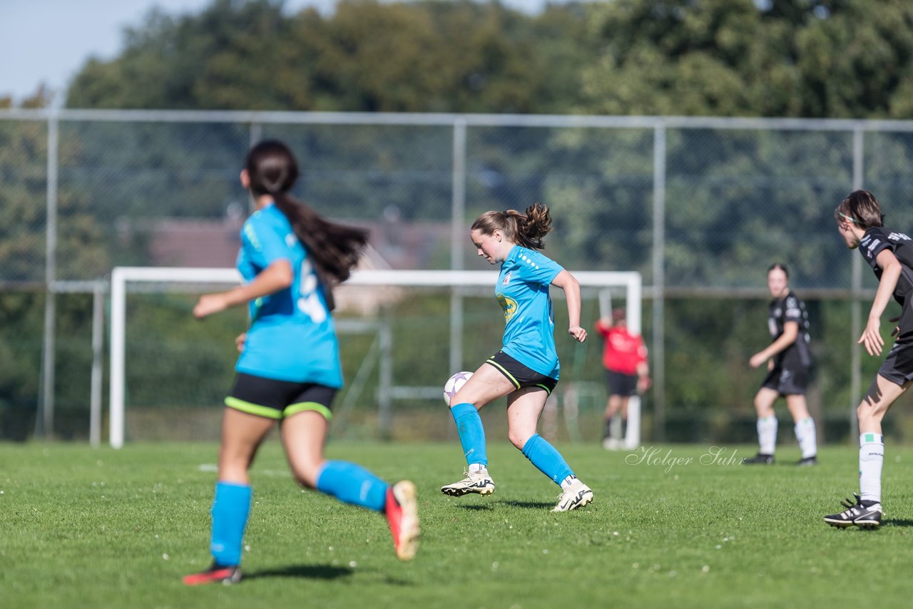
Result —
MULTIPOLYGON (((377 266, 482 268, 472 220, 542 201, 555 226, 546 254, 564 267, 639 271, 655 377, 647 437, 751 439, 761 379, 747 360, 769 341, 764 273, 784 262, 813 313, 813 410, 834 422, 821 425, 829 439, 849 434, 860 379, 877 368, 853 338, 876 283, 836 236, 834 206, 866 187, 887 226, 911 229, 913 123, 0 110, 0 437, 88 433, 91 282, 115 266, 231 266, 249 210, 238 173, 264 138, 298 155, 302 200, 371 227, 377 266)), ((142 340, 158 344, 137 349, 155 354, 133 369, 210 362, 209 338, 181 342, 180 328, 152 323, 142 340)), ((229 355, 207 378, 224 381, 215 369, 229 355)), ((600 385, 592 357, 585 381, 600 385)), ((195 404, 221 400, 204 393, 195 404)))

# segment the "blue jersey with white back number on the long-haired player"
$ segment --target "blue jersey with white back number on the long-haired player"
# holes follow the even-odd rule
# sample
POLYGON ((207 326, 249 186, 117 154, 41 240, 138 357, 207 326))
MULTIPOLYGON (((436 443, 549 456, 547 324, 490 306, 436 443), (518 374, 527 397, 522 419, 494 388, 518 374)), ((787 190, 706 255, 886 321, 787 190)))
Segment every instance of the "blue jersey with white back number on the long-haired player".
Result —
POLYGON ((247 218, 237 268, 244 280, 288 260, 291 287, 250 303, 250 328, 235 370, 279 381, 342 386, 339 342, 307 250, 276 205, 247 218))

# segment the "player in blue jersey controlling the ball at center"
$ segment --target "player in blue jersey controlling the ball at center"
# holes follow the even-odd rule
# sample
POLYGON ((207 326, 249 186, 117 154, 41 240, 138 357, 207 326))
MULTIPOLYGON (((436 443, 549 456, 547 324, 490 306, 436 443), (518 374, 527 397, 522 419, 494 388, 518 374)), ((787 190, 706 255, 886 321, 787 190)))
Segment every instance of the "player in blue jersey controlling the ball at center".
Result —
POLYGON ((580 325, 580 284, 561 265, 539 251, 542 237, 551 231, 549 208, 530 205, 516 210, 486 212, 473 223, 469 236, 478 255, 500 264, 495 297, 504 310, 504 341, 500 351, 472 375, 450 401, 460 443, 467 460, 467 478, 441 488, 445 495, 490 495, 495 483, 488 475, 485 430, 478 410, 508 397, 508 436, 551 481, 561 486, 552 511, 577 509, 593 500, 593 491, 574 476, 561 453, 536 433, 545 401, 558 383, 554 314, 549 287, 564 290, 568 333, 585 341, 580 325))

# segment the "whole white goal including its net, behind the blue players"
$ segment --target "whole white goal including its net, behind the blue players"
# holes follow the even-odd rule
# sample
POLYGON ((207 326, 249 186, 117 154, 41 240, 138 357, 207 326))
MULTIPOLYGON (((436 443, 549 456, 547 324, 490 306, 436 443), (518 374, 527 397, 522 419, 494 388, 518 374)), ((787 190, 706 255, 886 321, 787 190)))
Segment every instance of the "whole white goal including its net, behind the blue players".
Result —
MULTIPOLYGON (((598 442, 606 400, 602 341, 593 324, 608 299, 641 329, 642 286, 632 271, 573 272, 581 283, 584 343, 556 330, 561 383, 542 416, 543 436, 598 442)), ((500 348, 503 317, 495 271, 359 270, 336 289, 334 312, 346 386, 333 404, 331 435, 346 439, 454 437, 442 386, 500 348)), ((199 294, 240 281, 234 268, 118 267, 110 285, 110 445, 152 439, 217 439, 221 404, 237 357, 246 308, 196 321, 199 294)), ((567 327, 552 289, 555 327, 567 327)), ((495 404, 492 404, 495 405, 495 404)), ((639 401, 628 404, 625 444, 640 442, 639 401)), ((502 410, 482 411, 491 437, 502 410), (497 412, 496 412, 497 411, 497 412)), ((505 427, 506 428, 506 427, 505 427)), ((502 435, 501 437, 504 437, 502 435)))

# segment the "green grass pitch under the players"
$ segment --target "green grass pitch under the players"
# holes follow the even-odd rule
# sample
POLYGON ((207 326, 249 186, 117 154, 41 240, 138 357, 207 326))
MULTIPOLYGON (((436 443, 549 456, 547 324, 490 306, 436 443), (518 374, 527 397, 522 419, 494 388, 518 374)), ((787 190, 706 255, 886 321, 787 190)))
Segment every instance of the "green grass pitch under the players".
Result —
MULTIPOLYGON (((821 520, 856 488, 850 446, 827 447, 811 468, 792 467, 794 446, 773 467, 701 463, 707 446, 657 446, 645 459, 560 448, 595 492, 577 512, 551 513, 558 488, 503 441, 488 448, 497 492, 462 499, 437 490, 462 471, 456 441, 331 444, 329 457, 418 485, 422 546, 404 563, 383 517, 297 488, 271 440, 252 471, 245 581, 189 588, 181 576, 209 562, 215 445, 0 445, 0 604, 908 606, 913 448, 887 446, 887 520, 875 531, 821 520)), ((754 452, 725 457, 734 448, 754 452)))

